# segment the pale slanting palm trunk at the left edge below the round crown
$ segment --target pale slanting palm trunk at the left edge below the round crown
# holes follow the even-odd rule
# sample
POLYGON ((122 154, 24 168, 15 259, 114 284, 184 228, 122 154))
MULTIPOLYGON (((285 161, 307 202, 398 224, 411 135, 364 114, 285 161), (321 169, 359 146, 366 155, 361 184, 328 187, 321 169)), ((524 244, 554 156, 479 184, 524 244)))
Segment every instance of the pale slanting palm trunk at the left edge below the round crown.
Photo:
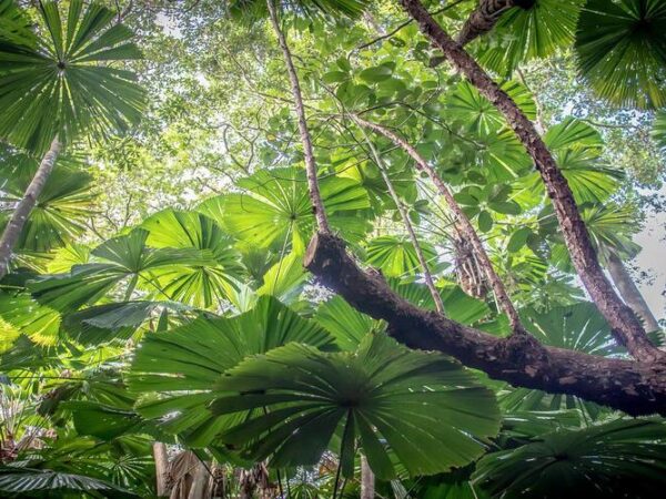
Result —
POLYGON ((11 258, 11 251, 13 249, 17 241, 26 226, 26 221, 32 212, 32 208, 37 204, 37 198, 41 194, 53 171, 53 166, 56 165, 56 160, 58 160, 58 155, 60 154, 60 150, 62 144, 58 140, 58 138, 53 139, 51 142, 51 147, 42 157, 42 161, 28 185, 26 193, 16 210, 13 211, 7 227, 4 227, 4 232, 0 237, 0 279, 4 277, 9 271, 9 261, 11 258))

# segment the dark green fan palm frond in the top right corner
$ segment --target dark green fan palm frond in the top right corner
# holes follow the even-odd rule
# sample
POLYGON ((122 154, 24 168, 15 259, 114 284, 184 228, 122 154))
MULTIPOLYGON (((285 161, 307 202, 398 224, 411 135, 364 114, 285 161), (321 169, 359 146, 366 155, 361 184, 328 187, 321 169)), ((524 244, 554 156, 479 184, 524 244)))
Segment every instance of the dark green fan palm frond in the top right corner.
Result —
POLYGON ((576 33, 583 77, 619 106, 666 105, 666 3, 588 0, 576 33))

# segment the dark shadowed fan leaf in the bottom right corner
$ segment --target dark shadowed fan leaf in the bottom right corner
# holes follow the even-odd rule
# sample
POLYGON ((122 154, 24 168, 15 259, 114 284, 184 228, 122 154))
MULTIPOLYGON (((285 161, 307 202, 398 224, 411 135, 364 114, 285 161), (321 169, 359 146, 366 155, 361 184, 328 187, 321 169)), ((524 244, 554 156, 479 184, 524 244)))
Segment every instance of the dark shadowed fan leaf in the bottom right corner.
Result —
POLYGON ((617 420, 544 435, 481 459, 474 480, 493 497, 655 497, 664 487, 664 424, 617 420))

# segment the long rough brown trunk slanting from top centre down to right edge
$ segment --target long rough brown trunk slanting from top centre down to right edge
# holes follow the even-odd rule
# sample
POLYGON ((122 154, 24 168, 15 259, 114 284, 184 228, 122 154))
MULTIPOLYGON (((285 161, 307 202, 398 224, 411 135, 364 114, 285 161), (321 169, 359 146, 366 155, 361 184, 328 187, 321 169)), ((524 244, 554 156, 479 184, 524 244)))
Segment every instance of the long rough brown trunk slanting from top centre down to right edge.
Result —
POLYGON ((418 0, 400 0, 400 3, 416 20, 422 33, 504 114, 506 122, 532 156, 555 208, 572 262, 589 296, 610 325, 616 340, 636 359, 666 360, 666 353, 650 343, 640 320, 619 298, 606 278, 572 190, 534 124, 478 63, 442 29, 418 0))

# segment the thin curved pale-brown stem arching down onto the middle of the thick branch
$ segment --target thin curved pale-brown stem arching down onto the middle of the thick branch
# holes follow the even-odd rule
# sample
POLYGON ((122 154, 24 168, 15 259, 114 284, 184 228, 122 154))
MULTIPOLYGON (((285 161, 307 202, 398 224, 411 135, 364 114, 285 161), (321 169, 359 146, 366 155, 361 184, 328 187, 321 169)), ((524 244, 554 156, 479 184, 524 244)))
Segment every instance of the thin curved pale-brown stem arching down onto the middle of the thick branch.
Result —
POLYGON ((497 299, 500 307, 508 316, 508 320, 511 323, 512 330, 514 333, 524 333, 525 329, 521 325, 521 319, 518 317, 518 313, 516 312, 515 307, 513 306, 513 303, 508 296, 508 293, 506 292, 506 288, 504 287, 504 284, 502 283, 502 279, 500 279, 500 276, 493 268, 491 258, 488 257, 488 254, 486 253, 485 248, 483 247, 483 243, 481 242, 478 234, 476 234, 476 231, 474 230, 474 226, 470 222, 470 218, 467 218, 467 215, 465 215, 465 213, 463 212, 461 206, 457 204, 457 202, 453 197, 453 193, 448 190, 448 187, 446 186, 444 181, 442 181, 440 175, 437 175, 437 172, 435 172, 435 170, 427 163, 427 161, 425 161, 425 157, 423 157, 421 155, 421 153, 418 151, 416 151, 415 147, 413 147, 407 141, 405 141, 398 134, 392 132, 391 130, 386 129, 385 126, 382 126, 376 123, 372 123, 370 121, 365 121, 361 118, 355 116, 355 120, 362 126, 366 126, 370 130, 373 130, 373 131, 384 135, 386 139, 392 141, 395 145, 400 146, 403 151, 405 151, 414 160, 417 170, 427 173, 431 181, 435 184, 435 186, 440 191, 440 194, 442 194, 442 197, 444 197, 444 201, 446 201, 446 204, 448 204, 448 207, 451 208, 454 216, 456 217, 456 222, 460 225, 460 228, 463 232, 463 234, 465 235, 465 237, 467 237, 467 242, 474 248, 474 252, 476 253, 480 264, 483 267, 483 269, 491 283, 493 293, 495 294, 495 298, 497 299))

